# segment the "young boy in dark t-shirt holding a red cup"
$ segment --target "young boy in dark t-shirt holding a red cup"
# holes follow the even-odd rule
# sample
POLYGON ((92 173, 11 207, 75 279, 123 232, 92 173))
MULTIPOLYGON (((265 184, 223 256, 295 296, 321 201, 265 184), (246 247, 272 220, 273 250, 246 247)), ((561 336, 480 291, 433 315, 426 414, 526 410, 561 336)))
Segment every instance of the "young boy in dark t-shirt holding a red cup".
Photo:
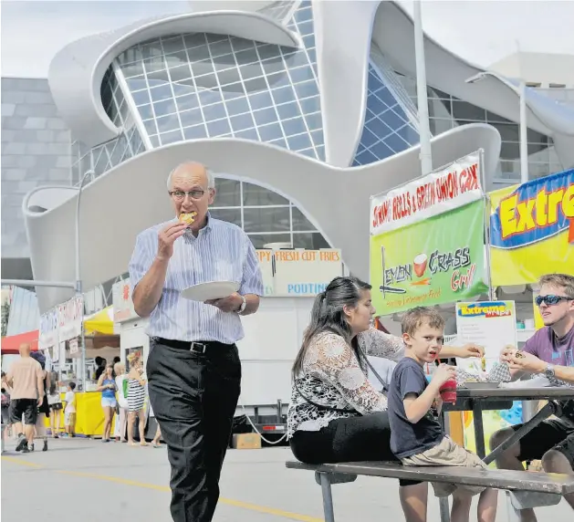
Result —
MULTIPOLYGON (((392 373, 388 395, 391 423, 391 450, 403 465, 452 465, 485 468, 476 455, 455 444, 438 421, 442 407, 439 389, 454 378, 455 369, 442 364, 429 383, 423 371, 425 362, 431 363, 443 347, 444 319, 432 308, 417 307, 402 318, 402 339, 406 347, 404 358, 392 373)), ((480 494, 478 519, 494 522, 496 518, 496 490, 455 484, 433 484, 435 496, 453 494, 451 520, 468 520, 472 496, 480 494)), ((425 518, 424 506, 409 506, 422 510, 417 515, 425 518)), ((417 511, 418 511, 417 510, 417 511)), ((405 516, 407 515, 405 510, 405 516)))

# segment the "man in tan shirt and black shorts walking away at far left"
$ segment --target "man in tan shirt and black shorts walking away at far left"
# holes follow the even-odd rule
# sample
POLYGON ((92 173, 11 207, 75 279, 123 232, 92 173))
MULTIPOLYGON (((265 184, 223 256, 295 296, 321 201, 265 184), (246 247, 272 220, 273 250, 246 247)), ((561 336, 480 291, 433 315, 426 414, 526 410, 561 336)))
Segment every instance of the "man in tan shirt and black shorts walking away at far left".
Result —
POLYGON ((44 401, 44 373, 37 360, 30 357, 30 345, 21 344, 20 359, 15 360, 6 373, 5 381, 12 388, 10 395, 10 422, 18 433, 16 452, 27 453, 34 443, 34 425, 37 408, 44 401), (22 417, 24 416, 24 429, 22 417))

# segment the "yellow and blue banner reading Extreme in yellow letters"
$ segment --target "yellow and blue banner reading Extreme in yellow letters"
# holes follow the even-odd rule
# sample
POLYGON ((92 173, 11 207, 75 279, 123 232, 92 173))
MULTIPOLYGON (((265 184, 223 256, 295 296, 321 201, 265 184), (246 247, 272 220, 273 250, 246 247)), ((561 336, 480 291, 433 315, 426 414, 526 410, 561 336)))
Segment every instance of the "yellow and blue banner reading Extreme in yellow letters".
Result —
POLYGON ((574 275, 574 170, 489 195, 493 286, 574 275))

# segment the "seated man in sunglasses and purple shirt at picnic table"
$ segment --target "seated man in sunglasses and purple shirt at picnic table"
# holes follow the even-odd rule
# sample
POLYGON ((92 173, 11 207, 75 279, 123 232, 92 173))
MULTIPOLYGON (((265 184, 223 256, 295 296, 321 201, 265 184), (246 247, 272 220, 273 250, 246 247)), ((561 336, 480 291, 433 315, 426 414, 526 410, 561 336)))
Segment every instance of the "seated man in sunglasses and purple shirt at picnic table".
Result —
MULTIPOLYGON (((550 380, 574 382, 574 276, 549 274, 540 278, 536 304, 544 328, 527 340, 524 350, 507 347, 500 359, 510 366, 513 378, 539 373, 550 380), (518 355, 518 357, 517 357, 518 355)), ((548 473, 572 474, 574 470, 574 401, 562 402, 562 416, 544 421, 496 460, 499 468, 524 470, 525 461, 542 459, 548 473)), ((493 434, 491 447, 502 444, 520 425, 493 434)), ((574 495, 564 496, 574 507, 574 495)), ((533 509, 520 511, 521 522, 536 522, 533 509)))

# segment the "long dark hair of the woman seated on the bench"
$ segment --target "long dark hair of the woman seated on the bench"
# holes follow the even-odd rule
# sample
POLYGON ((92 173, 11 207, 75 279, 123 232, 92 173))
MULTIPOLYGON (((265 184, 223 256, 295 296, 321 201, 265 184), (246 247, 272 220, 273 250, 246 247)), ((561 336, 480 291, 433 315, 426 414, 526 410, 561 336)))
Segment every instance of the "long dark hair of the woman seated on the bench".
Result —
MULTIPOLYGON (((305 360, 311 339, 323 331, 340 335, 357 351, 356 343, 352 342, 353 334, 343 307, 356 307, 362 297, 362 292, 370 290, 370 288, 369 283, 361 281, 358 277, 335 277, 325 288, 325 291, 318 294, 313 303, 311 320, 305 330, 301 349, 293 363, 292 374, 294 379, 303 369, 303 360, 305 360)), ((359 353, 357 355, 359 357, 359 353)))

